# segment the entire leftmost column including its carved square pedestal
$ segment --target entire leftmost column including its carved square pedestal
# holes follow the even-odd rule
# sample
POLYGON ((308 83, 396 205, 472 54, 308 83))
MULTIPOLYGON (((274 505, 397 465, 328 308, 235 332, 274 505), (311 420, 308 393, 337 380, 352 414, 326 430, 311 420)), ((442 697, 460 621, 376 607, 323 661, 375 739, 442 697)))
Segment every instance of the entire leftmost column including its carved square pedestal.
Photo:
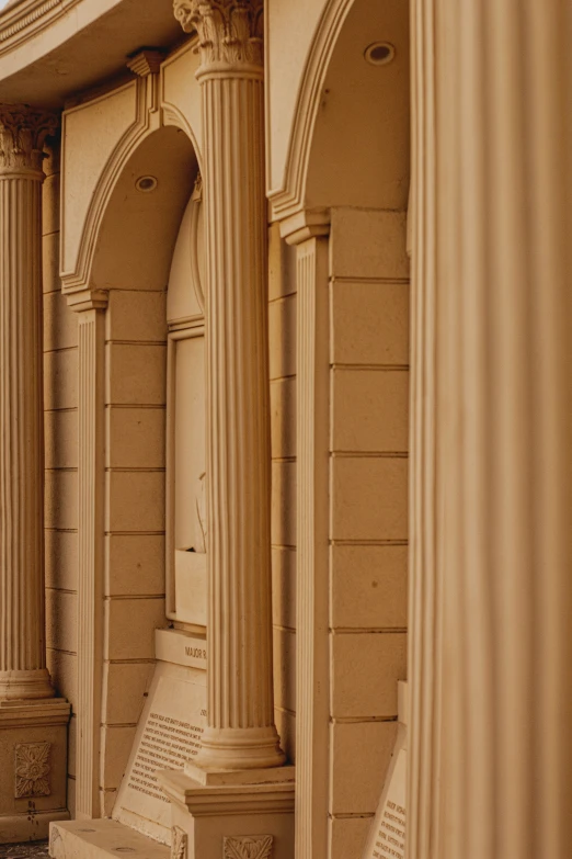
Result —
POLYGON ((0 832, 66 810, 69 704, 46 668, 42 355, 43 149, 57 116, 0 104, 0 832), (37 810, 35 820, 23 815, 37 810))

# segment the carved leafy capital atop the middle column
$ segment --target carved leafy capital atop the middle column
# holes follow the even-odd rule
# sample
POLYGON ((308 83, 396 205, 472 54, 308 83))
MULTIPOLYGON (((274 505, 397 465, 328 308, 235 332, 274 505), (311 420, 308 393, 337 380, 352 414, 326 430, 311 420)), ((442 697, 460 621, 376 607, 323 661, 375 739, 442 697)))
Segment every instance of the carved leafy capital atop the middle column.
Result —
POLYGON ((185 33, 198 33, 203 66, 262 65, 263 0, 174 0, 185 33))

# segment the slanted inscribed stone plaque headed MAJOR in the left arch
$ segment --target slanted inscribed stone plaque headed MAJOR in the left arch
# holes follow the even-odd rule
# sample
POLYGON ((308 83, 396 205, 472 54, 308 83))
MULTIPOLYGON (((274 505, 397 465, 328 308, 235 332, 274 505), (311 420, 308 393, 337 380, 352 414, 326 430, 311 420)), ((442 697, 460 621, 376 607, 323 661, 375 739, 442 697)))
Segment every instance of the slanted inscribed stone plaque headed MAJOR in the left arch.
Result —
MULTIPOLYGON (((198 652, 204 641, 169 631, 198 652)), ((195 657, 193 657, 194 659, 195 657)), ((206 662, 206 660, 205 660, 206 662)), ((158 662, 113 816, 163 844, 171 841, 171 807, 157 770, 182 770, 201 745, 206 724, 206 671, 158 662)))

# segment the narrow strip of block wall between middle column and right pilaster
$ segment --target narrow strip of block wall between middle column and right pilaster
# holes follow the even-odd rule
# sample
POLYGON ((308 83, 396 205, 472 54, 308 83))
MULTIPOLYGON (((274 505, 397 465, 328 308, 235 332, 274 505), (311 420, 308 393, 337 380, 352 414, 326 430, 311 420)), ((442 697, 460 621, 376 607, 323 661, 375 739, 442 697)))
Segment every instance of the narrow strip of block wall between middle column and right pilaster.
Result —
POLYGON ((276 725, 296 759, 296 253, 268 230, 272 586, 276 725))

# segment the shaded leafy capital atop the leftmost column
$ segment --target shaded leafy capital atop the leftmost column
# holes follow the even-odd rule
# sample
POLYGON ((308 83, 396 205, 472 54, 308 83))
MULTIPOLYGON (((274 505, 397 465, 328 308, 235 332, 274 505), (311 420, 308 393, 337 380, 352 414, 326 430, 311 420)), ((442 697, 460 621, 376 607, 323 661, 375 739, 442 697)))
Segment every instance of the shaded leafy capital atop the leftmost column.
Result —
POLYGON ((46 137, 58 117, 27 104, 0 104, 0 173, 42 170, 46 137))

